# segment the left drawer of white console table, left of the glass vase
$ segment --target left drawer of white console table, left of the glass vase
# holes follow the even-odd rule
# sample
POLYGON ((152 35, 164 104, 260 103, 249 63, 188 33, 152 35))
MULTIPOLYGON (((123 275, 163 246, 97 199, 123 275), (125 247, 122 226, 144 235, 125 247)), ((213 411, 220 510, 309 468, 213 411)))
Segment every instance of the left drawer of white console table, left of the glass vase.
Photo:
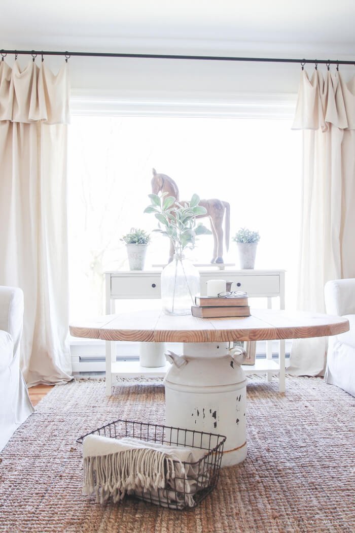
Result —
POLYGON ((160 298, 160 274, 156 276, 111 276, 111 297, 160 298))

